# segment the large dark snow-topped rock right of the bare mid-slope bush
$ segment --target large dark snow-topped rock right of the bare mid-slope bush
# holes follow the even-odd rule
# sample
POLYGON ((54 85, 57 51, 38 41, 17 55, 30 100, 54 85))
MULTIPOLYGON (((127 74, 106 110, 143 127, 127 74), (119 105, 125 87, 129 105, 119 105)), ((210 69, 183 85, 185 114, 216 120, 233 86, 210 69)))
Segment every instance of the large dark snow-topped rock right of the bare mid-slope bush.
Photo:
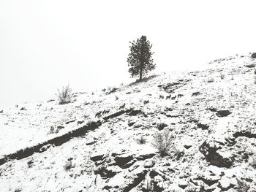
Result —
POLYGON ((233 155, 223 146, 224 144, 221 142, 206 140, 199 147, 199 150, 211 165, 229 168, 233 166, 233 155))

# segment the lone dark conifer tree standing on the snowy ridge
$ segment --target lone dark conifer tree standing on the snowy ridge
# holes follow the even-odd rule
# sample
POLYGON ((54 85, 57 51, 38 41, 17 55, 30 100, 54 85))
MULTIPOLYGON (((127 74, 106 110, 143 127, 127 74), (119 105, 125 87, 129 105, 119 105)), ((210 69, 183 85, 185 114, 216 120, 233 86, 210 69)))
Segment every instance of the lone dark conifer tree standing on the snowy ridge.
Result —
POLYGON ((149 71, 156 68, 151 56, 154 52, 151 52, 152 44, 147 40, 146 36, 141 36, 137 41, 129 42, 132 45, 129 46, 130 53, 127 58, 129 73, 132 77, 142 76, 148 74, 149 71))

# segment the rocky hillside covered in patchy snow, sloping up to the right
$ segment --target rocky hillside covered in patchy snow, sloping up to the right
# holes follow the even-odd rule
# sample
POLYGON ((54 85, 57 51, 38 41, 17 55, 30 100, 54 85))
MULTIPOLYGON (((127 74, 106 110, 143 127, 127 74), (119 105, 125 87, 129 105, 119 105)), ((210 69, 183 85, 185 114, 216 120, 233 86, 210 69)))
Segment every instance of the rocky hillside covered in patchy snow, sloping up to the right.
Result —
POLYGON ((255 62, 0 109, 0 191, 256 191, 255 62))

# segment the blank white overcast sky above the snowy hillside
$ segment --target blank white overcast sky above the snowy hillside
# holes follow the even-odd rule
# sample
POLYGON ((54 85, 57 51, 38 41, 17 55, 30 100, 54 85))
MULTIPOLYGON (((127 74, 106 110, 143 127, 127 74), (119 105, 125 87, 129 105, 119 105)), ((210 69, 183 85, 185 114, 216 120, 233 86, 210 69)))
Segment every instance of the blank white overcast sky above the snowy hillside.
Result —
POLYGON ((156 72, 255 51, 256 1, 0 0, 0 108, 129 80, 146 35, 156 72))

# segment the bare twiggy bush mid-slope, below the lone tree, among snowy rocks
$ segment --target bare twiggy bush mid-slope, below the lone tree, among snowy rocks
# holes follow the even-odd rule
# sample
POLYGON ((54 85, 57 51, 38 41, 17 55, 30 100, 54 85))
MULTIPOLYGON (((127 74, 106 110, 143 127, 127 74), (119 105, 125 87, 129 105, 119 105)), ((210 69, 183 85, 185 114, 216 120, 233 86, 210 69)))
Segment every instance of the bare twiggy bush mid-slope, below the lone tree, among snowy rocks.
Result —
POLYGON ((151 144, 157 148, 161 156, 169 155, 173 144, 173 137, 170 131, 165 129, 154 134, 151 144))

